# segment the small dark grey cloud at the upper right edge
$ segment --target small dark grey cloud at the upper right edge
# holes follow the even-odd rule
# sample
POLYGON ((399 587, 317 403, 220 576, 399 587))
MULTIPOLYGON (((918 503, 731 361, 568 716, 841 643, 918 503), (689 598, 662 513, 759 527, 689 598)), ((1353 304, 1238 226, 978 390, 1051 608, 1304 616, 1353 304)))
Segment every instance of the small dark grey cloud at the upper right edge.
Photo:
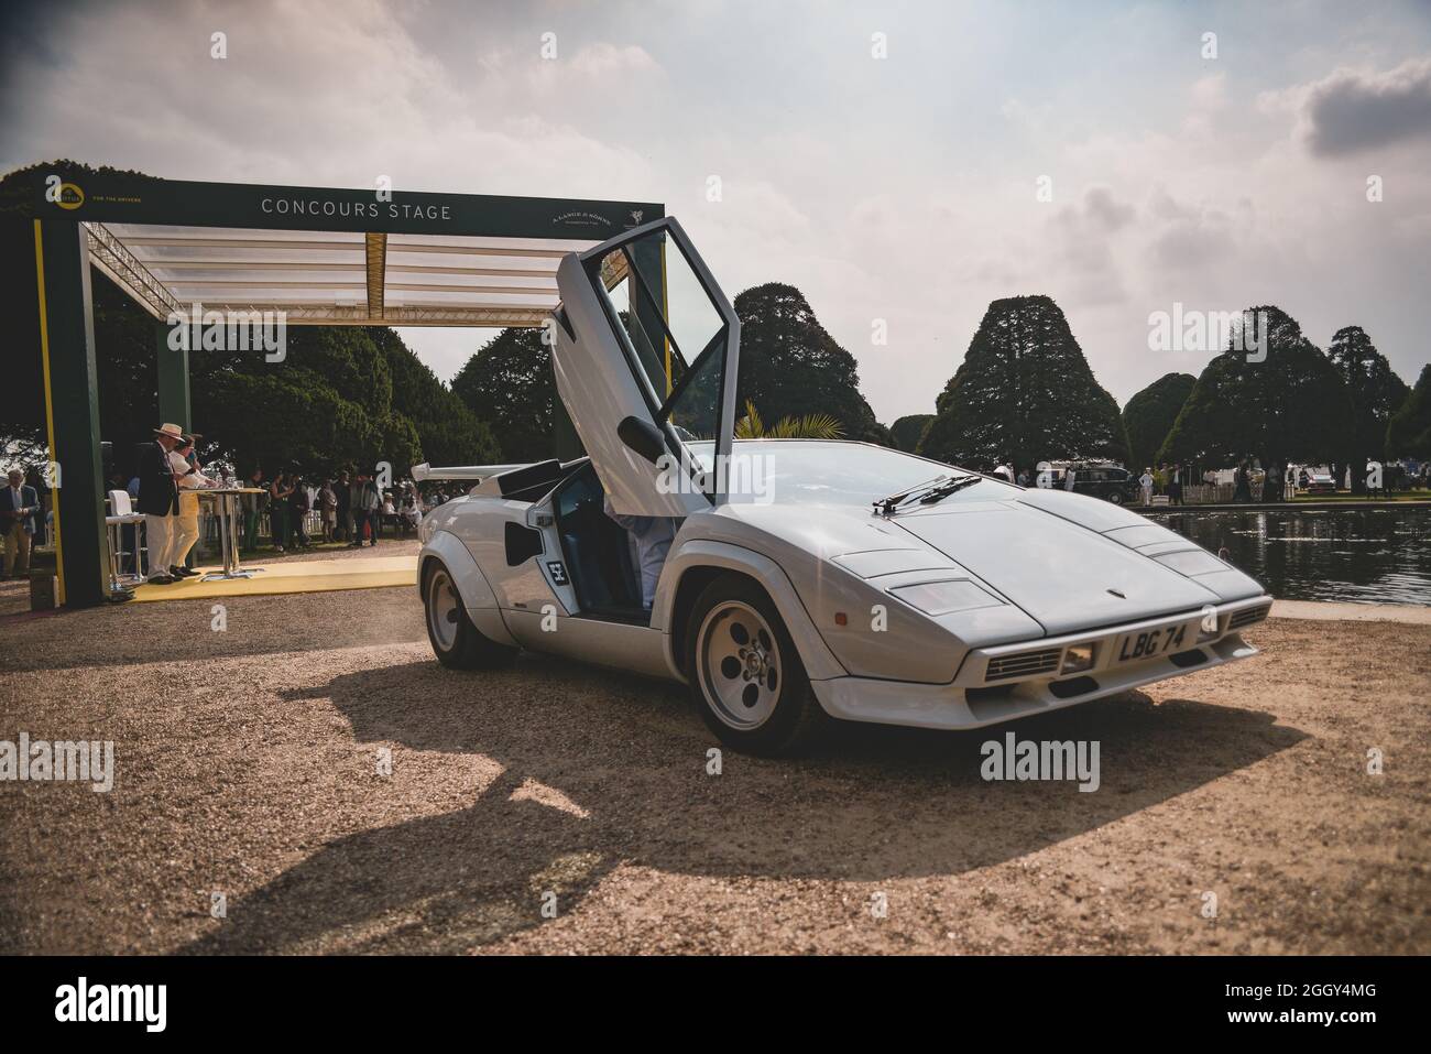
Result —
POLYGON ((1324 158, 1431 139, 1431 59, 1385 73, 1338 69, 1311 84, 1302 107, 1308 146, 1324 158))

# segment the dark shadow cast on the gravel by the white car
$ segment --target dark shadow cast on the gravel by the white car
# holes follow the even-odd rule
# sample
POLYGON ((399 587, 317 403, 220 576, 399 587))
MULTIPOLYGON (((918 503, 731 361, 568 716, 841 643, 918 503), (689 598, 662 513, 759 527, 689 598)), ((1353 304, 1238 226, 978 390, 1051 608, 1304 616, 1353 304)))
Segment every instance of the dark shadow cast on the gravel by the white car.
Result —
POLYGON ((459 952, 541 925, 621 864, 717 878, 883 881, 1016 859, 1291 748, 1258 710, 1126 693, 1012 725, 930 733, 840 725, 801 759, 724 750, 684 690, 524 656, 348 673, 289 699, 333 706, 362 743, 502 766, 471 806, 339 838, 182 951, 459 952), (1096 740, 1098 790, 987 782, 982 745, 1096 740), (544 803, 550 789, 575 808, 544 803), (548 904, 551 899, 548 898, 548 904))

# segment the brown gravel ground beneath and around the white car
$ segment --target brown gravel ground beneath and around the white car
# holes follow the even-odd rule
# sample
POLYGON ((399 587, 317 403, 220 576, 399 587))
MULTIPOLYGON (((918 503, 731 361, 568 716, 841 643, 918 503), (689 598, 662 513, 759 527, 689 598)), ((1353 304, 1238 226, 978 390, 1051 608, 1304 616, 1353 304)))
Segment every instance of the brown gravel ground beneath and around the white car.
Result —
POLYGON ((1274 619, 1246 663, 1007 726, 1098 740, 1080 793, 983 782, 1005 729, 707 775, 681 689, 444 670, 412 590, 209 609, 0 622, 0 739, 117 763, 0 783, 0 952, 1431 951, 1425 626, 1274 619))

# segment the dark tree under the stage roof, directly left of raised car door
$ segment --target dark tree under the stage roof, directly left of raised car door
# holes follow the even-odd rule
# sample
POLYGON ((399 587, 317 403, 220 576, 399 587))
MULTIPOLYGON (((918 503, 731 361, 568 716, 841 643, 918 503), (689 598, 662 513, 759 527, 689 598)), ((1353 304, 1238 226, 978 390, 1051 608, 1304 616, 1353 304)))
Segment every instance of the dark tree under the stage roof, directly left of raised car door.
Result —
POLYGON ((492 431, 509 463, 555 457, 552 408, 557 381, 541 329, 502 329, 452 378, 452 394, 492 431))

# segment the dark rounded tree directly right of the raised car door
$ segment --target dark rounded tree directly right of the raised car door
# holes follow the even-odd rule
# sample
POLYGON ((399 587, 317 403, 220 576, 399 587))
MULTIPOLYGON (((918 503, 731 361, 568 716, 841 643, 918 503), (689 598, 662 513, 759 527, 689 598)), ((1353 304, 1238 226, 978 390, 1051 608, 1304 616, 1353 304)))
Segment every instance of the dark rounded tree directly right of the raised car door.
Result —
POLYGON ((741 404, 773 417, 829 414, 851 440, 890 445, 889 430, 860 395, 854 355, 826 332, 793 285, 767 282, 736 298, 741 404))

